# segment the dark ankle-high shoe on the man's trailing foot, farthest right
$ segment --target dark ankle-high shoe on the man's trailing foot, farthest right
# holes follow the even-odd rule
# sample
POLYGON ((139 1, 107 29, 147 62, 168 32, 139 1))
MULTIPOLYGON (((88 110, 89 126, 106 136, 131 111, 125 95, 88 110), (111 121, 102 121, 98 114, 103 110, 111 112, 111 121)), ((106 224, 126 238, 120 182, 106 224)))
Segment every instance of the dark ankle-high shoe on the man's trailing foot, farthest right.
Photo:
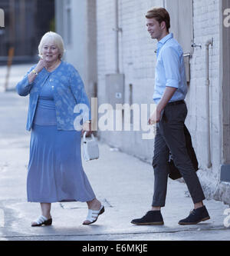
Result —
POLYGON ((193 209, 189 216, 187 218, 184 218, 182 220, 180 220, 178 222, 178 224, 180 225, 194 225, 194 224, 198 224, 201 221, 207 221, 209 220, 209 212, 207 211, 207 209, 205 208, 205 205, 197 208, 197 209, 193 209))

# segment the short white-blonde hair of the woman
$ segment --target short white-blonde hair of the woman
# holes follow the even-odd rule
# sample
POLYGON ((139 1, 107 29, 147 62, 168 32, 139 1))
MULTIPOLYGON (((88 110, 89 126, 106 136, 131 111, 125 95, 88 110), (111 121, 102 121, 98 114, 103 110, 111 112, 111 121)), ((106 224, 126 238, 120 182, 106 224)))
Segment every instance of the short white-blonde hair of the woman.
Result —
POLYGON ((39 57, 40 58, 42 57, 42 49, 43 49, 44 45, 47 44, 48 42, 52 42, 56 47, 58 47, 59 58, 61 59, 65 52, 64 41, 63 41, 61 35, 58 35, 58 33, 55 33, 55 32, 47 32, 41 38, 41 42, 38 45, 39 57))

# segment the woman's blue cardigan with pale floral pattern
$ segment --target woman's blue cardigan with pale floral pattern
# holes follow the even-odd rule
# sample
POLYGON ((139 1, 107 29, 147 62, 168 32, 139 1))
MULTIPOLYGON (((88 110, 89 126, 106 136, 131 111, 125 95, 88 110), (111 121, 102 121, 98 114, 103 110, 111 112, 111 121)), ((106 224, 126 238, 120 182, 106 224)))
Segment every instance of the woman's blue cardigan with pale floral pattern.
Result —
POLYGON ((49 79, 54 86, 54 104, 57 115, 58 130, 81 130, 82 121, 90 120, 90 104, 84 90, 84 83, 73 65, 67 62, 61 64, 52 72, 45 68, 39 72, 33 83, 29 84, 28 74, 36 67, 32 66, 25 77, 16 85, 18 95, 29 98, 26 129, 31 131, 38 103, 39 91, 44 82, 49 79))

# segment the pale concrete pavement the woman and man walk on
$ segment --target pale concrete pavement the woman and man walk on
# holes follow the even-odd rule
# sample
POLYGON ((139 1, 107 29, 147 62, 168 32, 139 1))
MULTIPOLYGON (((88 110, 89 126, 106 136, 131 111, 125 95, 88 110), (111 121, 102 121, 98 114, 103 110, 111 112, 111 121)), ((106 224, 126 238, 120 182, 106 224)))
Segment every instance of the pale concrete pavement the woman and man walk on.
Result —
MULTIPOLYGON (((84 226, 87 204, 52 204, 53 225, 31 228, 40 206, 28 203, 26 175, 30 133, 25 131, 28 97, 0 93, 0 240, 128 240, 128 241, 224 241, 230 229, 223 221, 228 205, 205 201, 211 219, 193 226, 179 226, 192 209, 186 185, 169 179, 163 226, 136 226, 133 218, 149 211, 153 197, 153 168, 133 156, 100 144, 100 159, 83 162, 84 170, 105 213, 95 224, 84 226)), ((143 141, 144 143, 144 141, 143 141)), ((229 221, 230 222, 230 221, 229 221)))

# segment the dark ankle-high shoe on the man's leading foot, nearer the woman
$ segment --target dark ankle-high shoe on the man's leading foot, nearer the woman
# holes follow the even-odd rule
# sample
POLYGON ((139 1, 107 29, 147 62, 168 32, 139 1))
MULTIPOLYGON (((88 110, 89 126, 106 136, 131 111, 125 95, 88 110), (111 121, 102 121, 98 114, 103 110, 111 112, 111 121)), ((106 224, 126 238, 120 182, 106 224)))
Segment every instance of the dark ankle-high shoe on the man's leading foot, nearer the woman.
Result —
POLYGON ((131 221, 136 225, 163 225, 163 217, 160 211, 148 211, 143 218, 136 218, 131 221))

